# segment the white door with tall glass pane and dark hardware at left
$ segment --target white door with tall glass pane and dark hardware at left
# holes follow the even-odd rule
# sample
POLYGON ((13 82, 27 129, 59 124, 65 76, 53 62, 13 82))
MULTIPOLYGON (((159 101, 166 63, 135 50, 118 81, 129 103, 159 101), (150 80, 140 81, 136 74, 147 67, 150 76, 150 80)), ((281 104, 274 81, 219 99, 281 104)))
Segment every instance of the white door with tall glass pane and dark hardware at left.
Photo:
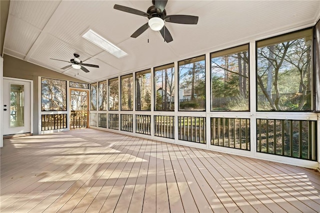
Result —
POLYGON ((3 135, 31 132, 30 84, 3 78, 3 135))

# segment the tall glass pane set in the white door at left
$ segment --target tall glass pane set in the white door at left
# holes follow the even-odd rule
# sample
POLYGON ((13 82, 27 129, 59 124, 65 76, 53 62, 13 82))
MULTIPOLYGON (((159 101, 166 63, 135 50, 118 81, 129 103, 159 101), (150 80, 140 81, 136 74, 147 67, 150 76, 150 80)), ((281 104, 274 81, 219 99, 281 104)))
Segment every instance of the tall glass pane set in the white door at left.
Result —
POLYGON ((24 126, 24 86, 10 84, 10 127, 24 126))

